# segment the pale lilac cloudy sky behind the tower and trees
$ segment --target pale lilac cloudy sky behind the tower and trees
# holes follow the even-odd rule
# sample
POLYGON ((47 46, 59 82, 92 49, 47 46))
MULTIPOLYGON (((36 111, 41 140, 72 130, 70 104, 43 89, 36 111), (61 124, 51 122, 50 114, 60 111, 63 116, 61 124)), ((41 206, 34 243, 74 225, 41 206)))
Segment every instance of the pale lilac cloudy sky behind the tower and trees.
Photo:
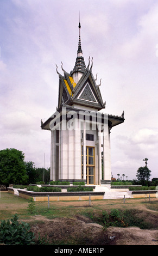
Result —
MULTIPOLYGON (((59 76, 73 70, 79 13, 85 64, 102 79, 104 111, 125 121, 111 130, 111 172, 158 177, 158 1, 0 0, 0 150, 15 148, 50 167, 50 131, 59 76)), ((127 176, 127 177, 126 177, 127 176)), ((122 177, 123 179, 123 177, 122 177)))

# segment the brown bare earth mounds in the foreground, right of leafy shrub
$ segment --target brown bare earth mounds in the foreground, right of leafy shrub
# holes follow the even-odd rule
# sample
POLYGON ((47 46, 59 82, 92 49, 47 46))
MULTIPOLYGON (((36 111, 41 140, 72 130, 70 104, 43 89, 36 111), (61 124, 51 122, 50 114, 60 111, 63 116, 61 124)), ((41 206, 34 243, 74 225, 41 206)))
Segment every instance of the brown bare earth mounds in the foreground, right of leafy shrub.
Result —
POLYGON ((49 243, 58 245, 158 245, 158 230, 137 227, 103 229, 102 225, 90 223, 89 218, 54 218, 48 220, 34 216, 38 221, 31 227, 36 240, 47 237, 49 243))

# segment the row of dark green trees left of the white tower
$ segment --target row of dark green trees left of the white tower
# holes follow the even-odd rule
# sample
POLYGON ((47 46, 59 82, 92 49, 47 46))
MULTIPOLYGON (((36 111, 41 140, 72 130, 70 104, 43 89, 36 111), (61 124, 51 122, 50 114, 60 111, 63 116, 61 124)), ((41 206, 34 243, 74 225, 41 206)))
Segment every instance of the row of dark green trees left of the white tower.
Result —
POLYGON ((36 184, 50 180, 50 168, 36 168, 34 162, 24 161, 24 153, 17 149, 0 150, 0 185, 36 184))

